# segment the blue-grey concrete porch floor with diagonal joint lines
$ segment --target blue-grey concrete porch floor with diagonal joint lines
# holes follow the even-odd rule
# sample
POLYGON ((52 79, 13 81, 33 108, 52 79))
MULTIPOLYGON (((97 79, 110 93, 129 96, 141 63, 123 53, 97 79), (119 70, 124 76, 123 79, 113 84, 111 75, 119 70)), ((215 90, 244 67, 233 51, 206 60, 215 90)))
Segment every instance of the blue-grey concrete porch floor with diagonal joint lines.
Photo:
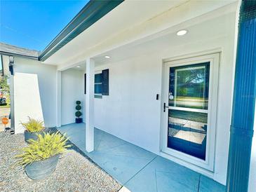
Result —
MULTIPOLYGON (((213 179, 95 128, 94 151, 86 151, 85 123, 58 128, 103 170, 130 191, 224 191, 213 179)), ((86 170, 82 170, 86 171, 86 170)))

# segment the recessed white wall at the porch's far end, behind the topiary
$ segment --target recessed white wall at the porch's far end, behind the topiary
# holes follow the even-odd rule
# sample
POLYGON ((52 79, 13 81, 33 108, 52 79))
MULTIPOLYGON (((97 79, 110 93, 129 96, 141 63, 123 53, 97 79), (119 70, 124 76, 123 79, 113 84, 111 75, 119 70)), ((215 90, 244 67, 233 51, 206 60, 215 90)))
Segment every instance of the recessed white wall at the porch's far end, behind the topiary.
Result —
POLYGON ((77 100, 83 107, 83 71, 67 69, 61 73, 61 124, 66 125, 75 122, 77 100))

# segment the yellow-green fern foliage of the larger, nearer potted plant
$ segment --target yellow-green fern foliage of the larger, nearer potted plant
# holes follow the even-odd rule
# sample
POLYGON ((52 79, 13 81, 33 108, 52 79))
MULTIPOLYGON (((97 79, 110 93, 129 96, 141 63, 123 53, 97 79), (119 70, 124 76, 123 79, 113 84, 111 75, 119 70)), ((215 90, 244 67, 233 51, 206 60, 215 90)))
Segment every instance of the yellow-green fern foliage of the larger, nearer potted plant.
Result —
POLYGON ((38 139, 29 139, 29 145, 21 149, 18 154, 18 165, 28 165, 35 161, 44 160, 57 154, 64 153, 71 145, 67 145, 67 138, 60 132, 53 134, 43 132, 43 135, 37 135, 38 139))

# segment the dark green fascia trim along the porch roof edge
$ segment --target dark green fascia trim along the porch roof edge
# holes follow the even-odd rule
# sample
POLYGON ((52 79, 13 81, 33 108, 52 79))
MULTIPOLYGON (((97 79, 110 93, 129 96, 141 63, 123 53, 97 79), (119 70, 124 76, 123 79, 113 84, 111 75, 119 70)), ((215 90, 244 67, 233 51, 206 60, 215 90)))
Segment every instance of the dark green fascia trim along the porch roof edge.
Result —
MULTIPOLYGON (((60 34, 51 41, 48 46, 39 55, 39 60, 45 61, 60 48, 65 46, 69 41, 88 29, 97 20, 100 20, 104 15, 112 11, 116 6, 119 6, 124 0, 105 0, 93 1, 90 0, 86 6, 62 29, 60 34)), ((103 29, 104 30, 104 29, 103 29)))

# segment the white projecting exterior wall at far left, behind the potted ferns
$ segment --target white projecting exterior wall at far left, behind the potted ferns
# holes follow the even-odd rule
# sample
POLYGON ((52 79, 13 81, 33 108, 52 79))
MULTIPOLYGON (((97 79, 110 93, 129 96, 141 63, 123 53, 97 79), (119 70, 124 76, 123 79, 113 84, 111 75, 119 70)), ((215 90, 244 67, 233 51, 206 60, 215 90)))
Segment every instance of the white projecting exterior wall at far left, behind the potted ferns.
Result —
MULTIPOLYGON (((23 118, 25 118, 25 119, 23 118, 19 119, 18 116, 15 116, 16 123, 20 123, 20 121, 23 122, 24 120, 27 119, 27 116, 29 116, 30 114, 38 114, 39 111, 42 111, 46 127, 55 127, 56 125, 56 96, 55 96, 56 95, 56 75, 55 75, 56 69, 57 68, 55 66, 42 64, 41 62, 36 60, 29 60, 22 57, 15 57, 14 67, 13 67, 14 79, 15 79, 15 74, 18 74, 18 73, 34 74, 35 76, 37 76, 36 78, 38 79, 38 86, 39 86, 39 92, 36 92, 35 90, 33 90, 35 95, 28 94, 28 92, 32 92, 31 89, 34 88, 28 85, 27 87, 28 95, 26 95, 25 90, 23 90, 22 92, 25 95, 14 96, 18 98, 18 100, 14 100, 15 114, 17 113, 22 114, 23 118), (39 99, 38 102, 40 102, 41 100, 41 109, 39 109, 39 106, 38 107, 32 106, 33 103, 31 102, 31 99, 35 97, 36 94, 40 94, 40 97, 38 98, 39 99), (28 111, 27 107, 22 107, 22 108, 15 107, 19 105, 19 102, 23 102, 24 104, 26 104, 27 107, 30 106, 32 109, 28 111)), ((22 78, 20 78, 20 80, 22 80, 22 78)), ((17 85, 22 83, 20 82, 20 80, 16 81, 15 83, 16 86, 14 84, 14 90, 17 89, 17 85)), ((19 125, 19 128, 20 128, 20 125, 19 125)), ((15 129, 17 130, 18 128, 15 128, 15 129)))

